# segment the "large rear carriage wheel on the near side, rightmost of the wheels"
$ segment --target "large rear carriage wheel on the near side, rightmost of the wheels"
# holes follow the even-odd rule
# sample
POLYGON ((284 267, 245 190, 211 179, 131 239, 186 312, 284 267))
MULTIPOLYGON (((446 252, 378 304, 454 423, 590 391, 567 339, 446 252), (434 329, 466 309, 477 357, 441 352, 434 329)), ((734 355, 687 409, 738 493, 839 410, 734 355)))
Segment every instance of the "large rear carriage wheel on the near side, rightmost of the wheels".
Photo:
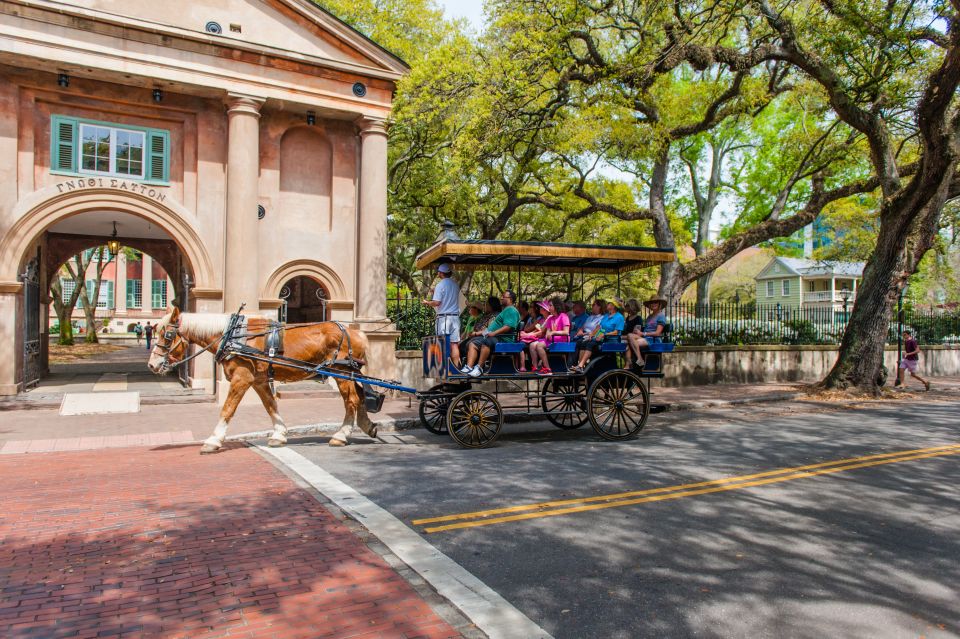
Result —
POLYGON ((590 425, 604 439, 633 437, 650 414, 650 395, 643 381, 625 370, 607 371, 587 393, 590 425))

